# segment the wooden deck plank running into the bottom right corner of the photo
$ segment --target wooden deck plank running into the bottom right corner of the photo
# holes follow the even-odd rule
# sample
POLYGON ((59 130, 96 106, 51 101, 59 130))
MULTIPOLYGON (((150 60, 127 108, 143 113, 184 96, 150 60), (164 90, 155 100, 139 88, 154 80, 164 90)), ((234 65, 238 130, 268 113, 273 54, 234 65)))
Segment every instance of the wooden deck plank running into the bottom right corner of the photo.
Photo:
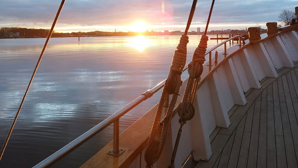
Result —
POLYGON ((288 111, 287 111, 287 105, 285 102, 280 102, 280 109, 281 109, 281 117, 283 121, 283 134, 284 134, 285 152, 286 152, 288 167, 297 167, 291 127, 290 127, 288 111))

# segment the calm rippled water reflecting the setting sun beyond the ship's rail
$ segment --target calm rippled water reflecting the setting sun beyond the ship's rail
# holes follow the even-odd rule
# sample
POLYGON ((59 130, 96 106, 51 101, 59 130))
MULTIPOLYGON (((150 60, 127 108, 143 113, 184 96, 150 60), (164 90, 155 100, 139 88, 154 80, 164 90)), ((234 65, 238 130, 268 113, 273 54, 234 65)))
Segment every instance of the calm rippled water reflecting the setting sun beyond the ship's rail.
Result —
MULTIPOLYGON (((188 58, 200 40, 189 36, 188 58)), ((209 36, 209 38, 212 35, 209 36)), ((214 36, 213 36, 214 37, 214 36)), ((180 36, 52 38, 0 167, 33 167, 166 79, 180 36)), ((0 145, 45 39, 0 39, 0 145)), ((218 41, 221 42, 221 41, 218 41)), ((208 49, 216 45, 208 41, 208 49)), ((218 51, 222 51, 220 48, 218 51)), ((188 76, 184 73, 182 78, 188 76)), ((120 132, 158 103, 160 92, 120 119, 120 132)), ((113 126, 53 167, 79 167, 113 139, 113 126)))

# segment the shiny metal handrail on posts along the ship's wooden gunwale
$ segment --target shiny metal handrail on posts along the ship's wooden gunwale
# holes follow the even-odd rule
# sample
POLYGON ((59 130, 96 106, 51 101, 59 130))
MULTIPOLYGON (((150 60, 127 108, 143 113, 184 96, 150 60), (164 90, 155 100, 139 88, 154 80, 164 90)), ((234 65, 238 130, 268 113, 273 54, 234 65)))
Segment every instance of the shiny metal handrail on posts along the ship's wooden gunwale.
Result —
MULTIPOLYGON (((239 35, 238 36, 231 37, 231 38, 227 39, 224 42, 221 42, 220 44, 214 46, 213 48, 211 48, 211 49, 209 49, 207 51, 206 55, 209 54, 209 65, 211 65, 211 52, 214 49, 218 48, 219 46, 225 44, 224 54, 226 55, 226 42, 228 42, 228 41, 230 41, 232 39, 235 39, 235 38, 239 38, 239 42, 240 42, 240 39, 241 39, 243 41, 243 46, 244 46, 244 44, 245 44, 244 39, 242 38, 242 36, 239 36, 239 35)), ((241 42, 239 44, 241 45, 241 42)), ((182 72, 184 72, 186 69, 187 68, 185 68, 182 72)), ((96 126, 94 126, 93 128, 91 128, 89 131, 85 132, 84 134, 82 134, 81 136, 79 136, 78 138, 76 138, 75 140, 73 140, 72 142, 70 142, 69 144, 67 144, 66 146, 64 146, 63 148, 59 149, 57 152, 55 152, 54 154, 50 155, 48 158, 44 159, 39 164, 35 165, 33 168, 40 168, 40 167, 49 167, 49 166, 51 166, 52 164, 56 163, 57 161, 59 161, 60 159, 62 159, 64 156, 68 155, 70 152, 72 152, 73 150, 75 150, 76 148, 78 148, 79 146, 81 146, 87 140, 89 140, 94 135, 96 135, 99 132, 101 132, 103 129, 105 129, 106 127, 108 127, 112 123, 114 123, 113 149, 111 149, 108 152, 108 154, 119 156, 122 152, 124 152, 124 150, 122 150, 122 149, 119 150, 119 118, 122 117, 127 112, 129 112, 135 106, 137 106, 138 104, 140 104, 141 102, 143 102, 144 100, 146 100, 149 97, 153 96, 154 93, 156 93, 157 91, 159 91, 161 88, 164 87, 164 82, 165 82, 165 80, 162 81, 161 83, 157 84, 152 89, 149 89, 149 90, 145 91, 138 98, 136 98, 135 100, 133 100, 131 103, 129 103, 128 105, 124 106, 122 109, 120 109, 116 113, 112 114, 110 117, 106 118, 101 123, 97 124, 96 126)), ((169 103, 169 96, 167 95, 166 100, 165 100, 165 106, 168 106, 168 103, 169 103)))

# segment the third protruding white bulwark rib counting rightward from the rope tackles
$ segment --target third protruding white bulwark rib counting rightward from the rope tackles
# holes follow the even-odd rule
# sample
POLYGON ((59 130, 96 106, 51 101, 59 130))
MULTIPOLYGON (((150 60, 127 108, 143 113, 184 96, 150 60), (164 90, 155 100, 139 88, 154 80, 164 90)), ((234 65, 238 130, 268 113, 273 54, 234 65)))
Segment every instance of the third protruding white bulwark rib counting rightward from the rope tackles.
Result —
POLYGON ((229 87, 232 92, 234 103, 244 106, 246 104, 246 98, 244 96, 232 58, 225 62, 223 66, 226 70, 226 79, 229 82, 229 87))

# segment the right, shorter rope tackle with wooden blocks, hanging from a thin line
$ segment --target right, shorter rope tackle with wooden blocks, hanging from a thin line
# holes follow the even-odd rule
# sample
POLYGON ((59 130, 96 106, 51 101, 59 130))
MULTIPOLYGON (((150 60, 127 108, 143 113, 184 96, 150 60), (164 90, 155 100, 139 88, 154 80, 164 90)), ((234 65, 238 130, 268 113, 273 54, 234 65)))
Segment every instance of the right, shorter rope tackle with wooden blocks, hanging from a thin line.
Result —
POLYGON ((180 119, 183 118, 183 116, 188 112, 190 106, 193 105, 195 100, 195 95, 198 90, 198 84, 200 82, 200 77, 203 72, 203 63, 206 60, 205 53, 206 53, 207 41, 208 41, 208 36, 206 36, 206 33, 207 33, 210 18, 211 18, 214 1, 215 0, 213 0, 211 4, 205 33, 201 36, 200 43, 198 47, 195 49, 195 52, 193 53, 192 61, 187 65, 189 78, 187 80, 186 88, 182 98, 182 103, 181 103, 182 115, 180 115, 180 119))

